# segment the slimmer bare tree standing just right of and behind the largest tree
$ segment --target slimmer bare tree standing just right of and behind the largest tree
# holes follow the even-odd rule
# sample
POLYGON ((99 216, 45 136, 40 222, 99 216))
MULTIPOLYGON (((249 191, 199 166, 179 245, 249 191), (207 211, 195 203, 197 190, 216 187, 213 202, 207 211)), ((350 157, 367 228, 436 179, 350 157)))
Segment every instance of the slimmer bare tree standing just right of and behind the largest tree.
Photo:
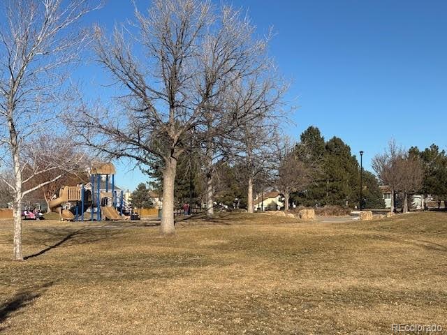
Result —
MULTIPOLYGON (((266 56, 270 37, 254 40, 254 27, 247 17, 240 20, 239 16, 239 11, 223 7, 222 21, 226 29, 207 38, 207 47, 204 47, 202 57, 203 63, 206 64, 204 82, 209 81, 207 78, 210 75, 217 73, 214 70, 216 67, 222 67, 222 74, 229 75, 229 79, 223 76, 223 80, 219 80, 215 85, 209 102, 203 108, 204 122, 199 127, 200 153, 203 156, 203 172, 206 178, 207 216, 214 213, 213 174, 219 168, 217 165, 228 161, 233 154, 233 131, 255 117, 262 117, 263 114, 263 110, 240 108, 235 105, 235 94, 237 95, 240 87, 249 84, 254 77, 260 77, 272 68, 272 62, 266 56), (237 61, 218 57, 221 52, 218 50, 225 51, 228 56, 232 54, 237 61)), ((240 102, 240 99, 236 98, 236 101, 240 102)))

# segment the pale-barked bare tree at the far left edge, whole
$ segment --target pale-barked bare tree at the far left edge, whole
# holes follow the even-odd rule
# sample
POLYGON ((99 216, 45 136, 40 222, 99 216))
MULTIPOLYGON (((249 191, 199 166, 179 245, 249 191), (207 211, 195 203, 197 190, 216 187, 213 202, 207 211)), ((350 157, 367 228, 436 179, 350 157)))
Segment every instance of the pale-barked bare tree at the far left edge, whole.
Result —
POLYGON ((14 197, 13 259, 23 260, 22 198, 33 188, 51 182, 24 188, 27 181, 43 173, 34 170, 23 179, 25 166, 30 166, 24 157, 25 147, 32 145, 46 121, 59 110, 57 106, 66 89, 66 73, 62 69, 77 59, 88 36, 74 26, 92 8, 87 0, 11 0, 2 1, 2 7, 5 14, 0 27, 0 156, 5 168, 13 171, 13 183, 8 183, 14 197))

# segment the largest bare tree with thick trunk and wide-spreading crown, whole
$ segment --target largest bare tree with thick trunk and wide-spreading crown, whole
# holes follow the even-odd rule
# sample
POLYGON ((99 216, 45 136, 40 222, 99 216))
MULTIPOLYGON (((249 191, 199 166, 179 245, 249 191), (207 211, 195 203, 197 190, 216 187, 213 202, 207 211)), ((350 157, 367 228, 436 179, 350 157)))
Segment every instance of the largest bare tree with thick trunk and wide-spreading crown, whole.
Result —
POLYGON ((98 61, 126 92, 118 99, 124 112, 85 107, 78 130, 89 146, 111 157, 147 166, 159 158, 161 233, 173 234, 177 160, 191 147, 214 157, 214 140, 249 119, 247 111, 258 113, 230 106, 227 97, 269 69, 268 39, 254 38, 239 10, 218 10, 210 1, 155 0, 147 13, 135 9, 135 15, 135 24, 115 28, 112 40, 96 30, 98 61), (133 39, 126 38, 129 31, 136 31, 133 39))

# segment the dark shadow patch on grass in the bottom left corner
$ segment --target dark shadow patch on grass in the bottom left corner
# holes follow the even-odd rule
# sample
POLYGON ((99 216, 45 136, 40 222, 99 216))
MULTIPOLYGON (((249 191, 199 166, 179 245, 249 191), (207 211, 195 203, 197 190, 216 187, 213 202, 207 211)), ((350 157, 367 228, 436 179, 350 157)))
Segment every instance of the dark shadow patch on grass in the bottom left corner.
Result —
POLYGON ((0 332, 3 332, 7 328, 7 326, 2 325, 12 313, 31 305, 34 299, 41 297, 53 284, 54 281, 49 281, 43 285, 36 285, 32 288, 20 290, 10 299, 0 303, 0 332))

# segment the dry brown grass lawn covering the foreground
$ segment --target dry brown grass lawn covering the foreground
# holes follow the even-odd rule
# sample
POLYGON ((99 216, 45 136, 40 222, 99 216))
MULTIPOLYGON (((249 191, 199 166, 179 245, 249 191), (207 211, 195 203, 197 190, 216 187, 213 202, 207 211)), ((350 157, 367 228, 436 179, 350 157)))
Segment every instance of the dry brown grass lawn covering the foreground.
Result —
POLYGON ((1 334, 391 334, 447 329, 447 214, 0 223, 1 334), (186 224, 188 222, 189 224, 186 224), (191 224, 192 223, 192 224, 191 224), (53 247, 54 246, 54 247, 53 247))

